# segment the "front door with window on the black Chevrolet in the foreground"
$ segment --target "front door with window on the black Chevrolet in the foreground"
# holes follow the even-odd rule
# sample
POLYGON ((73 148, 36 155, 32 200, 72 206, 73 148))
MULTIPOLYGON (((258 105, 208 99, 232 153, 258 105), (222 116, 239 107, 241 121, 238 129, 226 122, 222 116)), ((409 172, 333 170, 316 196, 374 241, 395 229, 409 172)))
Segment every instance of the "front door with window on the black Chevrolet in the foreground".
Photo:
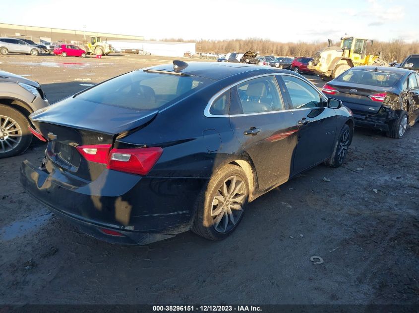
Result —
POLYGON ((332 155, 337 117, 335 110, 327 107, 325 96, 312 84, 295 75, 281 74, 281 78, 299 128, 293 163, 295 175, 332 155))

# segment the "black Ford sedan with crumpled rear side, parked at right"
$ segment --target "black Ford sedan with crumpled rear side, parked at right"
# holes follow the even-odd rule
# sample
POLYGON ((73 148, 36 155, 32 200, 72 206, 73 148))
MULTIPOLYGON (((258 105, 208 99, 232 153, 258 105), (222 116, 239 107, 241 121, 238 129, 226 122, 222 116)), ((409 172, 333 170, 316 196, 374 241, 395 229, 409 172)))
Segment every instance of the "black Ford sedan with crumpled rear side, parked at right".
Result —
POLYGON ((354 112, 355 125, 402 138, 419 119, 419 75, 412 70, 358 66, 324 85, 322 91, 354 112))

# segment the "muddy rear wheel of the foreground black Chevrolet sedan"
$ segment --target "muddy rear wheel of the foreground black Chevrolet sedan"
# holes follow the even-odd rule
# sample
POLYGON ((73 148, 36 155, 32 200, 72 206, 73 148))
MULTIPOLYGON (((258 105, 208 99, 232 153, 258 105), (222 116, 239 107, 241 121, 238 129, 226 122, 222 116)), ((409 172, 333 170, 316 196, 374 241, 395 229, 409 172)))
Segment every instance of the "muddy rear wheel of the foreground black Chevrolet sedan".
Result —
POLYGON ((222 240, 239 225, 247 205, 249 184, 237 165, 226 165, 209 181, 198 202, 192 231, 209 240, 222 240))

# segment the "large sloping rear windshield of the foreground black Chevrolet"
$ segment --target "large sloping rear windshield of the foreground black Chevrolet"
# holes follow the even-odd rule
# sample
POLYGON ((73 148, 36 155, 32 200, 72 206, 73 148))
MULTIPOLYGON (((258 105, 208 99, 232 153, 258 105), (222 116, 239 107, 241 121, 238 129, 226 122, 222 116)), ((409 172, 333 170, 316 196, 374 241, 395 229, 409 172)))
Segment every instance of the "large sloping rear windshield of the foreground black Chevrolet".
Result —
POLYGON ((173 74, 133 71, 92 89, 77 98, 134 110, 161 109, 208 85, 211 80, 173 74))

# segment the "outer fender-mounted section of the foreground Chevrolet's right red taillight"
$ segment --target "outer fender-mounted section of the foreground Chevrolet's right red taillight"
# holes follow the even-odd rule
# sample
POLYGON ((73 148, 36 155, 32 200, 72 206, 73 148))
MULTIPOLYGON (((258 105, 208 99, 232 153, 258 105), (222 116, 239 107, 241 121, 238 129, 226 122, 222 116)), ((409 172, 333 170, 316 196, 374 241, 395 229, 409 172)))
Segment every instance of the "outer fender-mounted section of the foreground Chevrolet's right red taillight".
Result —
POLYGON ((108 169, 147 175, 163 153, 160 147, 112 149, 108 169))

